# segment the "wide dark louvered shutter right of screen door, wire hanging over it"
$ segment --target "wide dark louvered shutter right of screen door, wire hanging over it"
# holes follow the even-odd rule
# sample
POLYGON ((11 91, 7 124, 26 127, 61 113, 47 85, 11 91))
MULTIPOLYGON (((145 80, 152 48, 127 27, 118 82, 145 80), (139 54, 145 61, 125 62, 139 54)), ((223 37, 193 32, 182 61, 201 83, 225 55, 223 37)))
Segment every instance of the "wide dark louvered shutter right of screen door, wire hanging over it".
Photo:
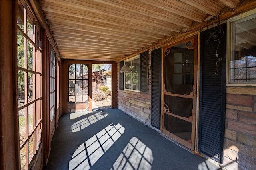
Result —
POLYGON ((200 97, 198 150, 212 159, 223 161, 225 90, 226 90, 226 24, 203 31, 200 35, 200 97), (209 40, 210 34, 220 30, 220 41, 209 40), (219 44, 220 43, 220 44, 219 44), (216 70, 216 50, 219 58, 216 70))

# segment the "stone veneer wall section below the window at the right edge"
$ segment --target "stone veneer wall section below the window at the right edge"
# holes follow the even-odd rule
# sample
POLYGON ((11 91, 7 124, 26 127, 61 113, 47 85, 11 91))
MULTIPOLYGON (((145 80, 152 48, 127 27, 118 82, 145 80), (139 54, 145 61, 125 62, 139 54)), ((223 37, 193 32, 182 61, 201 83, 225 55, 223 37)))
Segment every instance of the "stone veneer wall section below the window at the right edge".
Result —
POLYGON ((256 88, 226 88, 224 167, 256 169, 256 88))

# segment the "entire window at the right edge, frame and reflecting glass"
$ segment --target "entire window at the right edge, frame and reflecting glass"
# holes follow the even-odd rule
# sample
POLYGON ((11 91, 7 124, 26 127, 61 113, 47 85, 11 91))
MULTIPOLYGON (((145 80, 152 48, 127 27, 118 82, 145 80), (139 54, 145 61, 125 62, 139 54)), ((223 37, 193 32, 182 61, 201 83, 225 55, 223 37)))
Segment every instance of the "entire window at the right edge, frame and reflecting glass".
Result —
POLYGON ((256 86, 256 10, 228 20, 227 83, 256 86))

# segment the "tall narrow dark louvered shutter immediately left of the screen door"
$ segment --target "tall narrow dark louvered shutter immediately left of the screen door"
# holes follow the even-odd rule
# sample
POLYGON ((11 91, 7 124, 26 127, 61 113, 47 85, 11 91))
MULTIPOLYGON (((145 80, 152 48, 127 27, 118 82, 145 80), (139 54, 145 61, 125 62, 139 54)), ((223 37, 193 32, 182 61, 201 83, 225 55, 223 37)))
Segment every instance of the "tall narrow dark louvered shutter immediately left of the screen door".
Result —
POLYGON ((151 52, 151 125, 160 129, 162 49, 151 52))

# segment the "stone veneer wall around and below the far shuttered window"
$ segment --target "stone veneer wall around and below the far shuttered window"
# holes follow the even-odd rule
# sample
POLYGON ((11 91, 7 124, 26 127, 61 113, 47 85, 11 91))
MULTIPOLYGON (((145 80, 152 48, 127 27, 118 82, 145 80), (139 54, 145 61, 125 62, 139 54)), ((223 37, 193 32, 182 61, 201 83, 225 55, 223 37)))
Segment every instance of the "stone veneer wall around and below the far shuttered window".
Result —
POLYGON ((117 93, 117 105, 118 109, 124 111, 126 114, 138 119, 139 121, 150 125, 150 113, 151 113, 151 52, 149 52, 149 65, 148 65, 148 94, 144 92, 134 92, 130 90, 119 89, 119 70, 120 65, 118 63, 118 93, 117 93))

